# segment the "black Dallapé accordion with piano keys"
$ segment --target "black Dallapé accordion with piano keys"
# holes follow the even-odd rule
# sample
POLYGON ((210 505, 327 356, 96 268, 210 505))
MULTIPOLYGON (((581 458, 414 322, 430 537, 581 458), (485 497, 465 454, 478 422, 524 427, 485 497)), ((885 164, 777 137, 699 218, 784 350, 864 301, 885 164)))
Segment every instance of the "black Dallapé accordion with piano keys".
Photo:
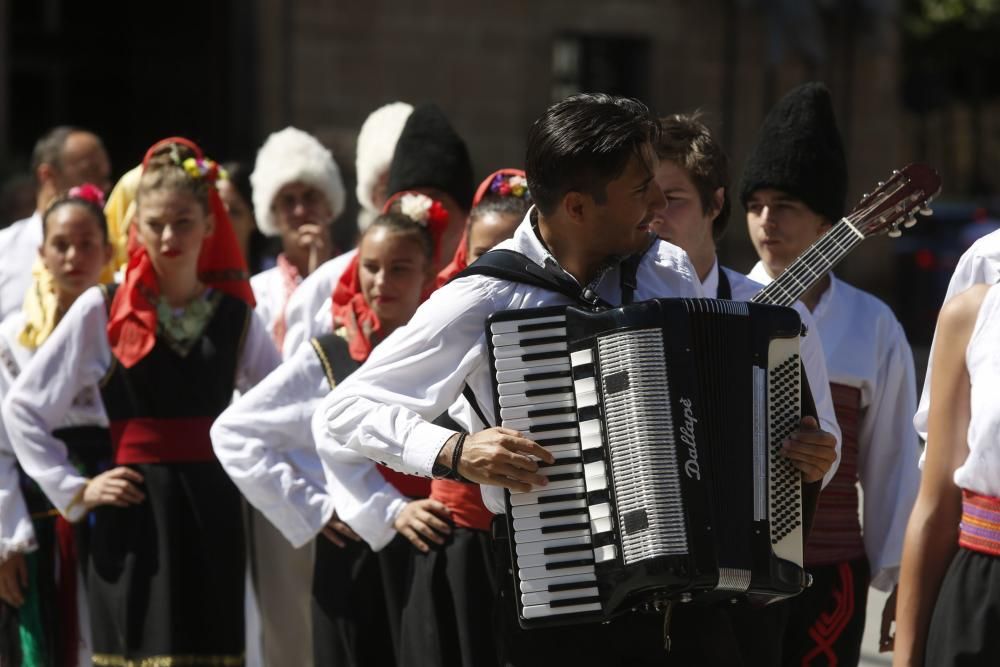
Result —
POLYGON ((555 457, 547 486, 506 494, 522 627, 802 591, 802 482, 781 455, 795 310, 656 299, 486 326, 500 424, 555 457))

